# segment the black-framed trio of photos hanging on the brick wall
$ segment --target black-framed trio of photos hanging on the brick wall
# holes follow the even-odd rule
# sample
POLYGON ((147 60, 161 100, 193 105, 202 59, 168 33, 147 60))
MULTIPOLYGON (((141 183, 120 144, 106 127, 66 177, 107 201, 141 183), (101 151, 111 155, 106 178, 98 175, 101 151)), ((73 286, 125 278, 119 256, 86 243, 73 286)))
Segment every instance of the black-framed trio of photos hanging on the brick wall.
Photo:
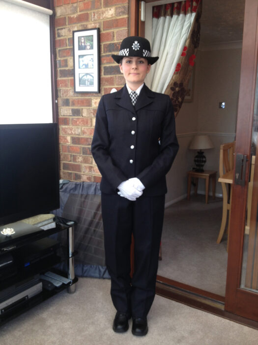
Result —
POLYGON ((99 93, 99 28, 73 31, 74 91, 99 93))

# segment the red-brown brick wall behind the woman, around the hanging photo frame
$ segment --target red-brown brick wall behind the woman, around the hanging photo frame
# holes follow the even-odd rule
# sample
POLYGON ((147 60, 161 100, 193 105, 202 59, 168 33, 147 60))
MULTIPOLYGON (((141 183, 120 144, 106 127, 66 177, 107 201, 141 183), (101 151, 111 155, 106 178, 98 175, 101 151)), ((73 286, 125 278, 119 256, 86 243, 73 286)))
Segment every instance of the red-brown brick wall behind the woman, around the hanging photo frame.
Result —
POLYGON ((90 145, 99 100, 124 78, 111 54, 128 35, 129 0, 55 0, 60 178, 100 182, 90 145), (73 31, 100 28, 100 94, 74 93, 73 31))

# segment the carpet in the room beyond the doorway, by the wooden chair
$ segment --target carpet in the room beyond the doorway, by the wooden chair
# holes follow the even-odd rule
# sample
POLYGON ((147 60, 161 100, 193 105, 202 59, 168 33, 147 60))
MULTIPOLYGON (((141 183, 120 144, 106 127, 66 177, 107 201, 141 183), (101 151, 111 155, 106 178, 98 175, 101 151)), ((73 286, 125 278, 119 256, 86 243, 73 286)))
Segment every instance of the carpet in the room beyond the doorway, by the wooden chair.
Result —
POLYGON ((217 244, 222 200, 191 196, 165 209, 158 275, 225 296, 227 238, 217 244))

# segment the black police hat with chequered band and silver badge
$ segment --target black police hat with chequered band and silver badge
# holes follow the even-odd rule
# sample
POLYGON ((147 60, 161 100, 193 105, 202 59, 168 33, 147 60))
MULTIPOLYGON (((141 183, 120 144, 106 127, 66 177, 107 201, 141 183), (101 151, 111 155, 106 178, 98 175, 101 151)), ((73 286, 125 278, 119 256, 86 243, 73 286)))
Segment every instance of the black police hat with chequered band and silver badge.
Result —
POLYGON ((150 65, 154 64, 159 58, 158 56, 150 56, 149 41, 140 36, 129 36, 124 38, 120 45, 119 55, 112 54, 111 56, 117 64, 126 56, 145 58, 150 65))

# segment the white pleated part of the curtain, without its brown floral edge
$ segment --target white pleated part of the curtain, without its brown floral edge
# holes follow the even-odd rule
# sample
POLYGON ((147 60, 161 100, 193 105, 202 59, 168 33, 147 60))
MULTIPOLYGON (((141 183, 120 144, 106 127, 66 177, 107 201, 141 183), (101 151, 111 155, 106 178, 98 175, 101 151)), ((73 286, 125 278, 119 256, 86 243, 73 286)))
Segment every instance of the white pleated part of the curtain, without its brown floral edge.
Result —
POLYGON ((152 56, 159 56, 159 60, 152 66, 152 91, 164 93, 173 76, 196 15, 189 11, 192 2, 153 7, 152 56))

